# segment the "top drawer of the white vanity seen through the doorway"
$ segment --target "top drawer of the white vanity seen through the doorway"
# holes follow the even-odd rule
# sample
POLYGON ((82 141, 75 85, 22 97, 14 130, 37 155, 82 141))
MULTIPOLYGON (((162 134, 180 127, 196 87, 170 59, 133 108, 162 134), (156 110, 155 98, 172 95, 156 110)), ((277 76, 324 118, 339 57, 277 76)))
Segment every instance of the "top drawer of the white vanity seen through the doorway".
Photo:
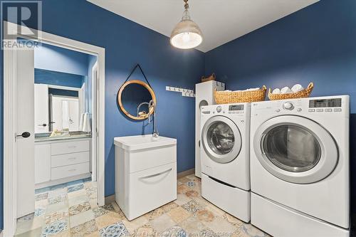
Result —
POLYGON ((51 154, 68 154, 74 152, 88 152, 90 150, 90 140, 58 142, 51 144, 51 154))

